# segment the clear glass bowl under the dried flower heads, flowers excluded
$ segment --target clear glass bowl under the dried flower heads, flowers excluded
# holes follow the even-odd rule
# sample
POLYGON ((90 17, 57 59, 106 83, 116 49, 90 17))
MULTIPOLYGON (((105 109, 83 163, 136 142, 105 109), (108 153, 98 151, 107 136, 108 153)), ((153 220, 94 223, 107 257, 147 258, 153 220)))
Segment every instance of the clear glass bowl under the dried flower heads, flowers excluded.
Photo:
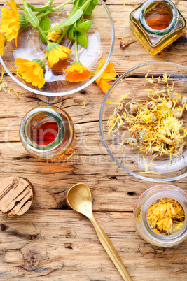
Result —
MULTIPOLYGON (((113 161, 130 175, 151 182, 170 182, 185 177, 187 175, 187 149, 183 149, 181 157, 172 157, 171 163, 170 156, 158 156, 153 159, 151 152, 140 151, 138 147, 127 143, 123 145, 122 150, 120 143, 124 141, 124 138, 132 138, 132 133, 125 128, 120 128, 117 133, 108 134, 107 122, 116 106, 112 102, 115 103, 124 94, 130 92, 125 102, 147 103, 147 101, 150 101, 151 99, 148 98, 148 92, 145 89, 153 89, 153 87, 160 89, 162 86, 160 86, 160 83, 158 84, 157 78, 165 72, 167 72, 167 76, 170 76, 169 83, 174 82, 174 90, 179 92, 181 97, 187 96, 187 68, 185 66, 171 62, 141 64, 125 72, 113 83, 104 97, 99 118, 102 141, 113 161), (147 73, 148 78, 145 78, 147 73), (155 81, 153 84, 147 80, 152 79, 152 76, 155 81), (153 164, 151 164, 151 161, 153 164)), ((186 110, 183 112, 182 118, 183 124, 186 126, 186 110)), ((140 142, 137 141, 139 145, 140 142)))

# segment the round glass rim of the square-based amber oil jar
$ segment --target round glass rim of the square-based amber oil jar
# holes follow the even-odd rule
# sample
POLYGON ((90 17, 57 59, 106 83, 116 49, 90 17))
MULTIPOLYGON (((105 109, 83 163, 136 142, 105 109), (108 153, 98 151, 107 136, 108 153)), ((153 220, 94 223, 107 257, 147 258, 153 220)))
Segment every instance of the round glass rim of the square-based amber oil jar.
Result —
POLYGON ((165 35, 165 34, 168 34, 169 32, 171 32, 172 29, 174 28, 174 26, 176 25, 178 18, 179 18, 178 9, 174 5, 174 3, 172 3, 172 1, 170 1, 170 0, 148 0, 142 4, 141 12, 139 13, 139 20, 141 22, 142 27, 144 27, 144 29, 148 33, 150 33, 154 36, 162 36, 162 35, 165 35), (159 3, 159 2, 167 4, 169 6, 169 8, 171 8, 172 14, 173 14, 172 22, 169 24, 169 27, 162 29, 162 30, 152 29, 151 27, 148 26, 148 24, 146 23, 146 20, 145 20, 145 14, 146 14, 146 10, 148 9, 148 7, 151 6, 151 4, 155 4, 155 3, 159 3))

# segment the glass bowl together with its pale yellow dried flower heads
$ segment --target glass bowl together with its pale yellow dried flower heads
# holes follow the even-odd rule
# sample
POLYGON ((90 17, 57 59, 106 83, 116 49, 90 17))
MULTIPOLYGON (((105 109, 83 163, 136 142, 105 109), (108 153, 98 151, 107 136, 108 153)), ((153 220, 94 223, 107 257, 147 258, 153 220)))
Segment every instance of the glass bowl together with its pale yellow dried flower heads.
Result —
POLYGON ((187 175, 186 78, 185 66, 142 64, 124 73, 106 94, 102 140, 131 175, 155 182, 187 175))

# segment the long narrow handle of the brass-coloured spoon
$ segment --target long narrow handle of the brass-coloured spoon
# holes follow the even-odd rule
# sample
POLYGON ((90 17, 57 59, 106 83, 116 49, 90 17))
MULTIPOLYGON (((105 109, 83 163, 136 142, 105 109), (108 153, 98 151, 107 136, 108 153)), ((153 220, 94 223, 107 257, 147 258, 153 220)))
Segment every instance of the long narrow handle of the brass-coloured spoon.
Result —
POLYGON ((95 217, 89 217, 90 222, 95 228, 99 241, 102 243, 104 250, 106 250, 107 254, 115 264, 116 268, 118 269, 120 275, 122 276, 123 280, 125 281, 132 281, 127 269, 125 268, 123 262, 121 261, 118 253, 116 252, 115 248, 113 247, 111 240, 106 235, 106 233, 102 230, 101 226, 99 226, 98 222, 96 221, 95 217))

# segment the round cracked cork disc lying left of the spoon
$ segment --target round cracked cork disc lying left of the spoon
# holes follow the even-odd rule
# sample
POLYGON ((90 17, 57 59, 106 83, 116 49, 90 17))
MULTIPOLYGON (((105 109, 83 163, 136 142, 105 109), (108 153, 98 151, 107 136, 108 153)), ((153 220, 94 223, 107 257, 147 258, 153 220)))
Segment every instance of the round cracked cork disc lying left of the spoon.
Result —
POLYGON ((4 215, 23 215, 29 210, 32 199, 32 184, 29 180, 10 177, 0 182, 0 210, 4 215))

